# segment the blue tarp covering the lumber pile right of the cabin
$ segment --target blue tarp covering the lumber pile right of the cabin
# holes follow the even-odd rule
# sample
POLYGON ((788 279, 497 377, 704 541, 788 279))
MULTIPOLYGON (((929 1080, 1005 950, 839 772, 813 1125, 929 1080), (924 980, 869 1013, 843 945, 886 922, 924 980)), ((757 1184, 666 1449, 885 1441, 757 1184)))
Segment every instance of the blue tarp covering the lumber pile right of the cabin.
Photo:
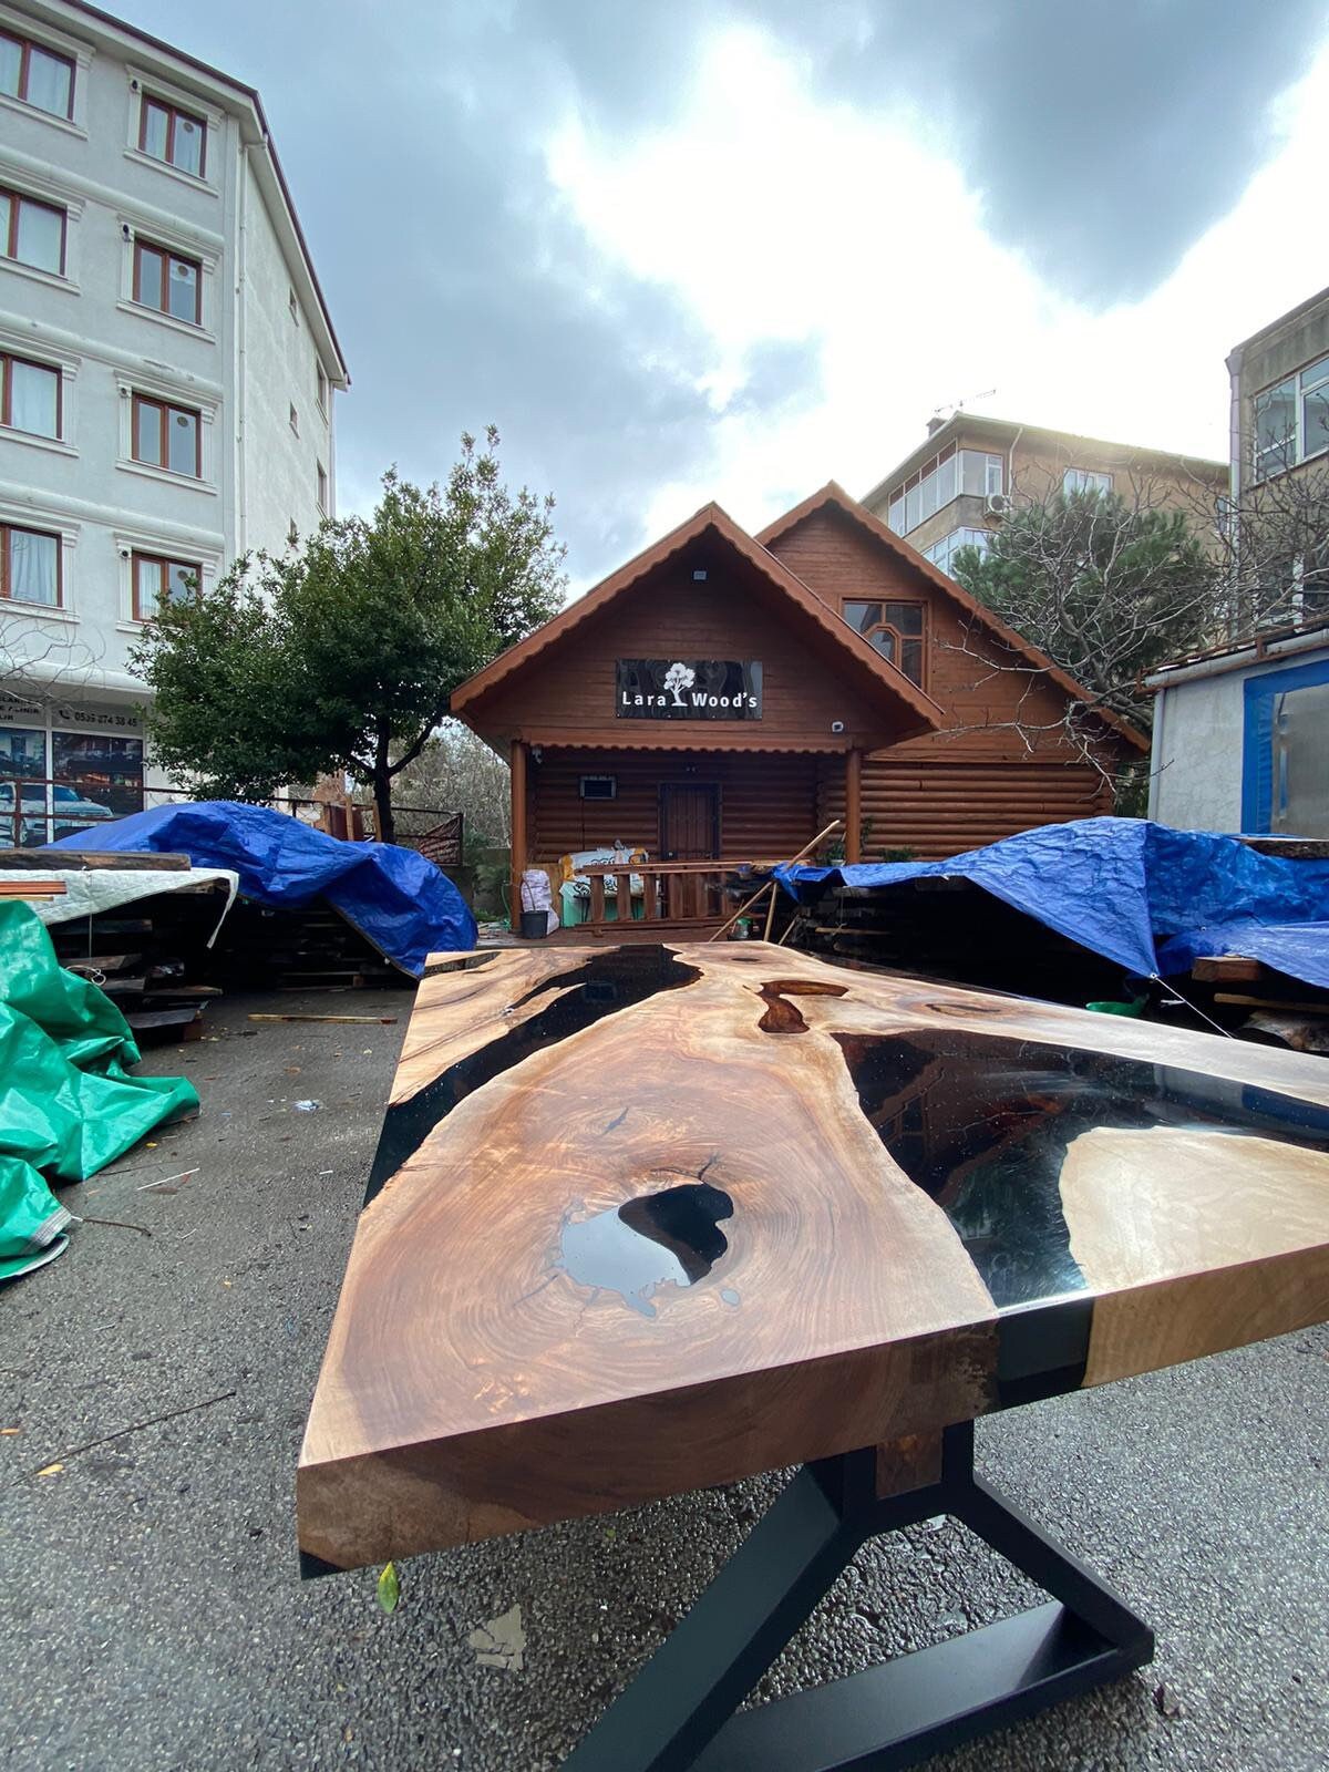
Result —
POLYGON ((776 868, 796 897, 822 881, 968 879, 1139 976, 1200 953, 1246 953, 1329 989, 1329 861, 1263 856, 1235 836, 1146 819, 1077 819, 948 861, 776 868))

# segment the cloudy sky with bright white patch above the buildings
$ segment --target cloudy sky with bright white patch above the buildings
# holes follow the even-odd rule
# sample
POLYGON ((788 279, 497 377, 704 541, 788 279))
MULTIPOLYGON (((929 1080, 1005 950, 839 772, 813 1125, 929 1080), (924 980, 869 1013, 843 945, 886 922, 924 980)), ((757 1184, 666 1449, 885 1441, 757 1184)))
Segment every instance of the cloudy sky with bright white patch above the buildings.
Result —
MULTIPOLYGON (((110 0, 113 4, 113 0, 110 0)), ((1226 454, 1329 282, 1329 0, 122 0, 257 85, 353 388, 340 507, 494 422, 574 585, 932 411, 1226 454)))

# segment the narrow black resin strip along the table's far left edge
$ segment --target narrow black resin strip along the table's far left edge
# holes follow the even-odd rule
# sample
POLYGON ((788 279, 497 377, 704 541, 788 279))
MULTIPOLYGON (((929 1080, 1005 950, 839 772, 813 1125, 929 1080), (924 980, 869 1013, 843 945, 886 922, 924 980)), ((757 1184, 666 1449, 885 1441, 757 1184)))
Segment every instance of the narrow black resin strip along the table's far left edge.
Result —
POLYGON ((633 1003, 656 996, 657 991, 677 991, 700 976, 695 966, 677 960, 668 948, 643 943, 641 946, 610 948, 583 966, 569 966, 565 973, 546 978, 544 983, 517 998, 512 1008, 526 1008, 528 1003, 542 996, 562 992, 548 1008, 516 1022, 509 1033, 452 1065, 409 1100, 388 1108, 383 1116, 379 1148, 374 1154, 374 1168, 369 1173, 365 1205, 424 1145, 439 1120, 473 1090, 493 1083, 494 1077, 510 1070, 512 1065, 519 1065, 523 1058, 530 1058, 540 1047, 555 1045, 558 1040, 590 1028, 604 1015, 613 1015, 620 1008, 631 1008, 633 1003))

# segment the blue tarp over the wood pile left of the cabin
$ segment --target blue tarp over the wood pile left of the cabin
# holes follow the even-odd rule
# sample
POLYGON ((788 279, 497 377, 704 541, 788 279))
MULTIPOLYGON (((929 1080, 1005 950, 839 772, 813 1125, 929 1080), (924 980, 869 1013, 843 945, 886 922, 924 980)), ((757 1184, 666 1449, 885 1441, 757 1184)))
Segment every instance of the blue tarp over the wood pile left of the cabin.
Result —
POLYGON ((232 868, 246 898, 275 909, 324 897, 416 978, 429 953, 475 946, 475 918, 432 861, 393 843, 346 843, 268 806, 234 799, 159 806, 74 831, 51 847, 92 845, 177 851, 195 867, 232 868))

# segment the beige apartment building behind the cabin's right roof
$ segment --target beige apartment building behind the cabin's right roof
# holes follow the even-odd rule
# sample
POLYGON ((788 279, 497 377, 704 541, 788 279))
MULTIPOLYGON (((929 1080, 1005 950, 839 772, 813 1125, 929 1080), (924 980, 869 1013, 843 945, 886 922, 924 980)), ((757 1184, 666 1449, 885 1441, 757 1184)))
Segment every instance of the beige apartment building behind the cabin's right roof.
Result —
POLYGON ((960 548, 985 548, 1015 498, 1120 493, 1127 501, 1212 510, 1228 489, 1221 461, 1104 443, 1006 418, 957 411, 932 418, 927 438, 863 498, 943 572, 960 548))

